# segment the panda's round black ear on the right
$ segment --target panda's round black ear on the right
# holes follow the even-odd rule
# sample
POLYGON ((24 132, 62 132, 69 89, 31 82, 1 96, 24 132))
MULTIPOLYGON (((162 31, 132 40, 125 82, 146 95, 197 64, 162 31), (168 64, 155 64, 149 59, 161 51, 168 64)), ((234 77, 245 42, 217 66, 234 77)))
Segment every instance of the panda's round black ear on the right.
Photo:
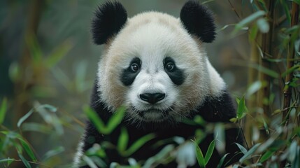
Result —
POLYGON ((215 39, 215 23, 213 15, 198 1, 187 1, 180 11, 180 20, 190 34, 201 41, 211 43, 215 39))

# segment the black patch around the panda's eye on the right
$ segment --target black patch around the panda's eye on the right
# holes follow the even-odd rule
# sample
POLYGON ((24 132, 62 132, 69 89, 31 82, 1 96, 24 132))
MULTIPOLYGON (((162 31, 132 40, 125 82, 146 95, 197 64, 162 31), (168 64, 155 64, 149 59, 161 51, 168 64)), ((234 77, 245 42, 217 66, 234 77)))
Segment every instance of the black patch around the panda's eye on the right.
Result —
POLYGON ((183 82, 185 81, 185 73, 183 69, 178 69, 174 59, 172 59, 171 57, 166 57, 163 63, 166 74, 168 74, 172 82, 176 85, 183 84, 183 82))

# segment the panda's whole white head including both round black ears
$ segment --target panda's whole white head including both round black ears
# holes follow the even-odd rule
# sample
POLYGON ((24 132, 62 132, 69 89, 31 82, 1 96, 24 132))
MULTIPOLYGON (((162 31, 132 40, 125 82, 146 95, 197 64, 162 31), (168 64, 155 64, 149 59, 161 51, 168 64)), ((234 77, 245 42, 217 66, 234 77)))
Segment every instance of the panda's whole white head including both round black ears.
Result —
POLYGON ((94 43, 105 44, 98 71, 101 101, 127 120, 160 123, 189 116, 224 82, 208 62, 203 43, 215 38, 210 11, 187 1, 180 18, 157 12, 127 19, 118 2, 99 6, 92 23, 94 43))

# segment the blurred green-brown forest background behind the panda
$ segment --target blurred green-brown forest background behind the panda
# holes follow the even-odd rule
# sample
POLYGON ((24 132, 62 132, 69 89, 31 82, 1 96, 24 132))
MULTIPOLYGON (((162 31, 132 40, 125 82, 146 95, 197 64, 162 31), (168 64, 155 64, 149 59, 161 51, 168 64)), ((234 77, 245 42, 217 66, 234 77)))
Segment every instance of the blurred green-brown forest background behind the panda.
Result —
MULTIPOLYGON (((183 0, 121 2, 129 17, 157 10, 176 18, 185 3, 183 0)), ((234 97, 240 97, 248 81, 248 34, 239 31, 231 36, 233 27, 222 28, 241 21, 253 8, 250 1, 201 2, 213 10, 217 24, 216 40, 206 45, 210 62, 234 97)), ((86 117, 82 107, 90 102, 103 48, 92 43, 90 34, 94 10, 101 3, 102 0, 0 1, 0 101, 8 102, 1 130, 22 130, 38 160, 50 167, 70 164, 83 133, 86 117), (60 122, 47 121, 43 113, 34 112, 17 127, 20 118, 40 104, 51 105, 50 111, 57 108, 52 118, 60 122)), ((13 148, 3 151, 5 155, 0 153, 0 159, 17 158, 13 148)), ((12 167, 22 167, 22 162, 13 164, 12 167)))

